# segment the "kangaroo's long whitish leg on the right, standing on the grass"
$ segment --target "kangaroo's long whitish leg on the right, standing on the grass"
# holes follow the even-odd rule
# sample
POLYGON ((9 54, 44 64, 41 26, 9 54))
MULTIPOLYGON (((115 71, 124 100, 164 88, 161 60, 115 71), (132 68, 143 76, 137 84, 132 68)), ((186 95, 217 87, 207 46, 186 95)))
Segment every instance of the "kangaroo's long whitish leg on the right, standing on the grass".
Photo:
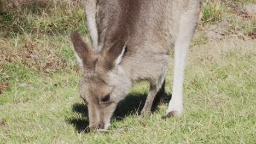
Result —
MULTIPOLYGON (((195 11, 194 11, 195 13, 195 11)), ((190 47, 190 43, 195 32, 198 17, 187 11, 180 21, 180 31, 174 44, 174 77, 172 87, 172 99, 166 111, 167 116, 174 114, 181 115, 183 112, 183 81, 185 60, 190 47), (188 25, 188 23, 190 23, 188 25)))

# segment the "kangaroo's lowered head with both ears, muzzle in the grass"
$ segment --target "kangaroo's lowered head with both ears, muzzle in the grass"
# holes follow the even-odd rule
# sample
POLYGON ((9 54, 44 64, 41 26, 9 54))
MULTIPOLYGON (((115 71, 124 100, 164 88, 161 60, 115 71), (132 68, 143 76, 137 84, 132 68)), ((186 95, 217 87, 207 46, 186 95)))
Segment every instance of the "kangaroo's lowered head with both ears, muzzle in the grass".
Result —
POLYGON ((124 37, 113 39, 97 51, 77 32, 71 34, 75 56, 84 73, 80 80, 81 97, 88 105, 90 129, 108 129, 115 108, 129 92, 131 82, 121 66, 126 40, 124 37))

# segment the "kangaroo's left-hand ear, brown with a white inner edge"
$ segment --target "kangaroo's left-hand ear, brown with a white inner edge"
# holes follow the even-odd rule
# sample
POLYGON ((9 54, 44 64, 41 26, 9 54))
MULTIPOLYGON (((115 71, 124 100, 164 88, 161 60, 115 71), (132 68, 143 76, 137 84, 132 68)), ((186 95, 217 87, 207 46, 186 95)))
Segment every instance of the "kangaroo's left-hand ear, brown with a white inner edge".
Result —
POLYGON ((79 63, 80 68, 83 70, 89 69, 92 61, 92 53, 94 52, 88 44, 86 44, 78 32, 71 33, 71 41, 73 43, 75 57, 79 63))

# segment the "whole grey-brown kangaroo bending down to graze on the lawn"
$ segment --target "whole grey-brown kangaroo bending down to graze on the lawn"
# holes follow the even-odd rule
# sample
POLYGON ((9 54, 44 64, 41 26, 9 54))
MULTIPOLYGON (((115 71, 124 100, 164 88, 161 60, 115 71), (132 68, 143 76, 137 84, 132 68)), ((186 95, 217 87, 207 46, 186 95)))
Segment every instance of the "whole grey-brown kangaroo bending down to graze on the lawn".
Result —
MULTIPOLYGON (((83 77, 80 93, 89 111, 89 128, 108 129, 118 103, 133 83, 150 90, 141 115, 155 95, 164 94, 169 51, 174 47, 174 79, 167 116, 183 112, 185 59, 199 22, 202 0, 86 0, 92 47, 71 34, 83 77)), ((161 98, 160 98, 161 99, 161 98)))

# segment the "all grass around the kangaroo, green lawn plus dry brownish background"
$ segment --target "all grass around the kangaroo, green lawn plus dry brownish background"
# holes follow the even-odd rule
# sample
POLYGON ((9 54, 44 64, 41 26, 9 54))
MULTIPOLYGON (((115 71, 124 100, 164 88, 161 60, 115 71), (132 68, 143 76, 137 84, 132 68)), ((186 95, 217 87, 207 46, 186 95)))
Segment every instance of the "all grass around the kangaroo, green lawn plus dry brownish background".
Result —
MULTIPOLYGON (((113 118, 110 126, 133 130, 86 134, 82 130, 88 116, 78 85, 82 74, 69 40, 74 29, 88 39, 83 9, 75 6, 79 1, 40 1, 34 7, 20 2, 15 6, 22 7, 20 13, 11 11, 11 5, 0 9, 1 19, 11 15, 0 22, 0 143, 256 142, 255 40, 208 40, 202 35, 193 41, 185 70, 182 116, 162 119, 165 104, 149 117, 139 117, 137 110, 148 93, 148 83, 142 82, 122 102, 126 117, 113 118), (47 3, 41 7, 42 2, 47 3)), ((210 8, 206 2, 203 10, 210 8)), ((6 3, 2 1, 2 5, 6 3)), ((213 25, 226 15, 237 22, 232 25, 246 23, 245 19, 237 21, 230 11, 224 11, 214 22, 207 18, 205 23, 213 25)), ((253 27, 253 19, 247 22, 253 27)), ((197 33, 201 29, 207 26, 200 25, 197 33)), ((171 56, 166 77, 169 95, 172 70, 171 56)))

